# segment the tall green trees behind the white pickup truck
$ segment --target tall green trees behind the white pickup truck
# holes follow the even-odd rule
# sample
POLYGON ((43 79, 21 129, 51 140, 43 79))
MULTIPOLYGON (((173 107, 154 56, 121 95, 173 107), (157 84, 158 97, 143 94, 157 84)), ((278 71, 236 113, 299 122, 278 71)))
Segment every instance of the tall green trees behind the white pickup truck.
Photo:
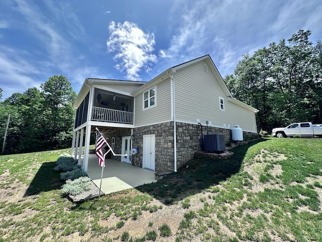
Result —
POLYGON ((259 131, 295 122, 322 124, 322 41, 312 44, 310 34, 299 30, 287 41, 245 54, 224 77, 235 98, 260 110, 259 131))

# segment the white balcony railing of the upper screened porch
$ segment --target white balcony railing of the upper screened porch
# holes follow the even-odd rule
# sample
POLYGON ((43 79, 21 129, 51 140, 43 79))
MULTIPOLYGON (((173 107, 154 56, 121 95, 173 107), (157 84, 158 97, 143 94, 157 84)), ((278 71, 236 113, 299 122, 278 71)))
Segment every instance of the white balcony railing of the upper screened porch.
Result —
POLYGON ((133 112, 104 107, 93 107, 92 120, 133 125, 133 112))

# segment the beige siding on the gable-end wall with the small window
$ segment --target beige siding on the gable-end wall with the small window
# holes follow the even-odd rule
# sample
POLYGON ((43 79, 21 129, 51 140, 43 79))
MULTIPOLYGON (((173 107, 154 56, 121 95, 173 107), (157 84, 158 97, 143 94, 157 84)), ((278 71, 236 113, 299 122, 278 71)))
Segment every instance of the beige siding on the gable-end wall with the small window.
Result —
POLYGON ((223 127, 224 124, 239 125, 241 129, 256 132, 254 112, 229 103, 218 80, 208 69, 206 62, 198 62, 183 68, 174 74, 176 120, 179 122, 202 124, 211 122, 212 126, 223 127), (218 98, 222 97, 224 112, 218 108, 218 98))

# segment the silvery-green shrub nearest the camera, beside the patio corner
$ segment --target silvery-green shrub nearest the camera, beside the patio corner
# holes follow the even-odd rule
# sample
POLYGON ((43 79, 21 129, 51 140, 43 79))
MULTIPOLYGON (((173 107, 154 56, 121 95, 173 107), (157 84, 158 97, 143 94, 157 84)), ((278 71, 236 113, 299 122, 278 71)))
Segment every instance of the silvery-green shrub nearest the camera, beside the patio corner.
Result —
POLYGON ((78 195, 91 190, 91 179, 88 176, 81 176, 74 180, 66 180, 62 185, 62 192, 66 195, 78 195))

